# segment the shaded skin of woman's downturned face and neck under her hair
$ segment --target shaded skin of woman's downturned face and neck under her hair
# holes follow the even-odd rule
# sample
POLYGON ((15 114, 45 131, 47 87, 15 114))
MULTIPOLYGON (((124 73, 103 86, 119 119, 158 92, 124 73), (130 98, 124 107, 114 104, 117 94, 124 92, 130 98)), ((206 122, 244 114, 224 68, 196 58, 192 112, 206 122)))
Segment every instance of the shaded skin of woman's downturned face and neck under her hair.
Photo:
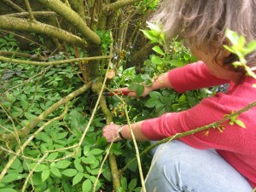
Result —
POLYGON ((228 52, 227 50, 224 50, 224 54, 219 54, 220 56, 218 56, 217 60, 214 58, 214 55, 217 53, 217 49, 216 52, 213 50, 212 52, 207 53, 201 49, 196 48, 195 46, 192 46, 190 47, 190 50, 198 60, 203 61, 207 65, 212 75, 220 79, 230 79, 235 82, 237 79, 241 78, 241 73, 235 73, 228 70, 227 68, 222 67, 224 57, 230 55, 230 52, 228 52))

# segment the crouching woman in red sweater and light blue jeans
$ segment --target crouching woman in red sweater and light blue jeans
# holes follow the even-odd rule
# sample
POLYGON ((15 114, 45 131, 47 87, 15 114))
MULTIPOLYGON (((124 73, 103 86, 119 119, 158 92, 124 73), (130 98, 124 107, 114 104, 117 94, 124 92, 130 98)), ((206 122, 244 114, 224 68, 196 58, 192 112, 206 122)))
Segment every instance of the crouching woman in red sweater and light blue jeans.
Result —
MULTIPOLYGON (((255 39, 255 0, 165 0, 154 19, 161 21, 167 38, 182 38, 198 62, 176 68, 160 76, 152 90, 172 88, 177 92, 218 84, 230 84, 225 93, 201 101, 180 113, 165 113, 131 125, 138 141, 161 140, 224 118, 256 100, 256 79, 241 67, 233 67, 236 55, 224 49, 227 27, 255 39)), ((249 67, 256 66, 256 53, 247 55, 249 67)), ((127 90, 122 88, 120 90, 127 90)), ((136 96, 134 92, 130 96, 136 96)), ((256 187, 256 108, 238 116, 246 128, 225 122, 224 131, 210 129, 154 149, 147 191, 249 192, 256 187)), ((128 125, 106 125, 108 142, 131 139, 128 125)))

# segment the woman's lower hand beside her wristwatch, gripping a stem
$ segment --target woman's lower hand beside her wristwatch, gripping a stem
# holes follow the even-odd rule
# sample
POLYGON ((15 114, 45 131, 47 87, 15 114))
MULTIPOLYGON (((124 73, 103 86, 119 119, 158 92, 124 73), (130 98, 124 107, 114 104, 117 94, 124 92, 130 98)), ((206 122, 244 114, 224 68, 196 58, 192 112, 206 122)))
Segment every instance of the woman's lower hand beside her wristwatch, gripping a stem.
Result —
POLYGON ((103 137, 106 137, 107 142, 118 142, 122 138, 119 136, 119 128, 120 125, 115 125, 113 122, 110 123, 110 125, 106 125, 103 127, 102 135, 103 137))

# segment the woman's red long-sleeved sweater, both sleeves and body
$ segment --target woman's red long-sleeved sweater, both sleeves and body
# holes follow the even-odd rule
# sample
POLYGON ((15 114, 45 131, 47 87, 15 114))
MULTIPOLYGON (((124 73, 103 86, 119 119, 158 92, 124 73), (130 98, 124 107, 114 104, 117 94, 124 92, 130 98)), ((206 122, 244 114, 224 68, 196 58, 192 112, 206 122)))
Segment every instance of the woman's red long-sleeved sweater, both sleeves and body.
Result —
MULTIPOLYGON (((246 77, 240 84, 234 84, 224 79, 218 79, 209 73, 202 61, 176 68, 169 72, 169 80, 177 92, 194 90, 212 85, 230 83, 226 93, 217 93, 203 99, 194 108, 180 113, 165 113, 159 118, 143 122, 143 134, 151 140, 171 137, 176 133, 193 130, 224 118, 224 114, 245 108, 256 101, 256 79, 246 77)), ((236 168, 247 178, 253 188, 256 187, 256 108, 238 116, 246 129, 238 125, 224 125, 221 133, 218 129, 210 129, 194 135, 180 138, 184 143, 194 148, 215 148, 224 160, 236 168)))

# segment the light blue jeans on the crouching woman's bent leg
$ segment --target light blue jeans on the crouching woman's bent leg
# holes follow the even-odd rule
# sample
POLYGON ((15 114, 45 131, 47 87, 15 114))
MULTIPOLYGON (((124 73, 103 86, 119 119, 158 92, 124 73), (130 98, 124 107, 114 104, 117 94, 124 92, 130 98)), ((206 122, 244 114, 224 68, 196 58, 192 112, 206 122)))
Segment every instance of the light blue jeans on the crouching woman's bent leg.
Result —
POLYGON ((247 179, 213 149, 172 141, 154 148, 147 192, 250 192, 247 179))

